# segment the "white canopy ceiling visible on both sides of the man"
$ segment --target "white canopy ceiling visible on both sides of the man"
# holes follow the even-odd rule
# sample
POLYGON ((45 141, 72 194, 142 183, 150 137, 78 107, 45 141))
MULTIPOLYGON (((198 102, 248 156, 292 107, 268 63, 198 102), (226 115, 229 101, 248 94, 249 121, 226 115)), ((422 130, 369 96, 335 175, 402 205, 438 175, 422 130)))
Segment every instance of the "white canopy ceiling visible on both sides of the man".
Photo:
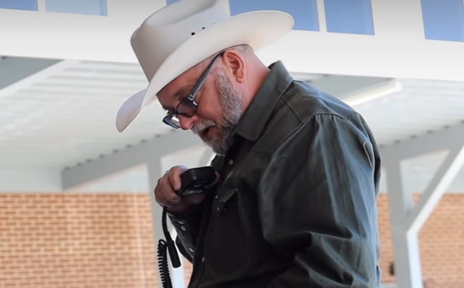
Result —
MULTIPOLYGON (((0 61, 2 77, 13 72, 1 68, 0 61)), ((296 77, 317 86, 330 75, 296 77)), ((382 147, 464 123, 464 82, 397 80, 401 91, 355 106, 382 147)), ((64 169, 173 131, 161 122, 159 105, 124 133, 116 131, 121 103, 145 86, 139 65, 77 60, 6 85, 0 90, 0 169, 64 169)))

